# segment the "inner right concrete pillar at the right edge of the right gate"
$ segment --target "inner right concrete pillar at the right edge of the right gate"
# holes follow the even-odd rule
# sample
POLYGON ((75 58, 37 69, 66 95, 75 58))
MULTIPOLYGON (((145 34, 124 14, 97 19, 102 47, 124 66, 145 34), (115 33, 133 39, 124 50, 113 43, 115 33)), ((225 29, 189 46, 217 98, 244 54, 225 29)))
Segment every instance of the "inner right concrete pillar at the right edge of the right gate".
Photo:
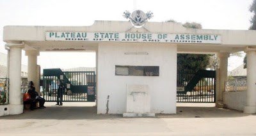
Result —
POLYGON ((225 92, 225 85, 228 76, 228 57, 229 53, 218 53, 219 68, 216 74, 216 107, 223 107, 223 92, 225 92))

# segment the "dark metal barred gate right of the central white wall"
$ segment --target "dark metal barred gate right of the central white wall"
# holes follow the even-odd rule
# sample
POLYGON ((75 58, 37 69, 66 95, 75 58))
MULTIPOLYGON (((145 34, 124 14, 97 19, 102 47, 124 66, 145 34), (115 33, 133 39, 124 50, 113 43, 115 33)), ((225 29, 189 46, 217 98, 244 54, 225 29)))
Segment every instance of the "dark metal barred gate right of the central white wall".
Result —
POLYGON ((177 74, 177 102, 214 103, 216 71, 177 74))

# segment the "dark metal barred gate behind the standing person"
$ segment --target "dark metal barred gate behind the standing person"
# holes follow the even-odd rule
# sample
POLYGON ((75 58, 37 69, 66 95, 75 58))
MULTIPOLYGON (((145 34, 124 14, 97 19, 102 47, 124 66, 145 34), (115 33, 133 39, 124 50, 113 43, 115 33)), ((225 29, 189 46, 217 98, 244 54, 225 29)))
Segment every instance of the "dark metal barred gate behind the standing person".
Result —
POLYGON ((44 69, 43 96, 46 102, 57 102, 61 75, 65 85, 62 102, 95 102, 95 71, 44 69))

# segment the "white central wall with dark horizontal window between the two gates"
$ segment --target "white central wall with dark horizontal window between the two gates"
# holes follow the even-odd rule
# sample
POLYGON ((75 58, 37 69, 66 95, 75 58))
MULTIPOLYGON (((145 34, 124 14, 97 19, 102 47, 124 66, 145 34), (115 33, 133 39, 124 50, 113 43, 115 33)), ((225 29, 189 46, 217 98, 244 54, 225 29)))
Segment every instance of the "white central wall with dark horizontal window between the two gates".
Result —
POLYGON ((176 113, 177 46, 175 44, 100 43, 97 113, 126 111, 126 85, 148 85, 154 113, 176 113), (147 52, 148 55, 125 55, 147 52), (159 66, 159 76, 115 76, 115 65, 159 66))

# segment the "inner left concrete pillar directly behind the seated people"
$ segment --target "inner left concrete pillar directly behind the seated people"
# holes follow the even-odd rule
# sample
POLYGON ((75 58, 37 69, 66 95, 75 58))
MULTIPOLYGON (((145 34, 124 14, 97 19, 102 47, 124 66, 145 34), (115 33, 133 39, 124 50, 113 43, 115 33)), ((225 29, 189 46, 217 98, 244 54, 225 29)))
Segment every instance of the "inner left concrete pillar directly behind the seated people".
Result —
POLYGON ((38 78, 38 66, 37 56, 39 51, 37 50, 26 50, 26 56, 28 56, 28 83, 33 81, 36 92, 40 93, 40 78, 38 78))

